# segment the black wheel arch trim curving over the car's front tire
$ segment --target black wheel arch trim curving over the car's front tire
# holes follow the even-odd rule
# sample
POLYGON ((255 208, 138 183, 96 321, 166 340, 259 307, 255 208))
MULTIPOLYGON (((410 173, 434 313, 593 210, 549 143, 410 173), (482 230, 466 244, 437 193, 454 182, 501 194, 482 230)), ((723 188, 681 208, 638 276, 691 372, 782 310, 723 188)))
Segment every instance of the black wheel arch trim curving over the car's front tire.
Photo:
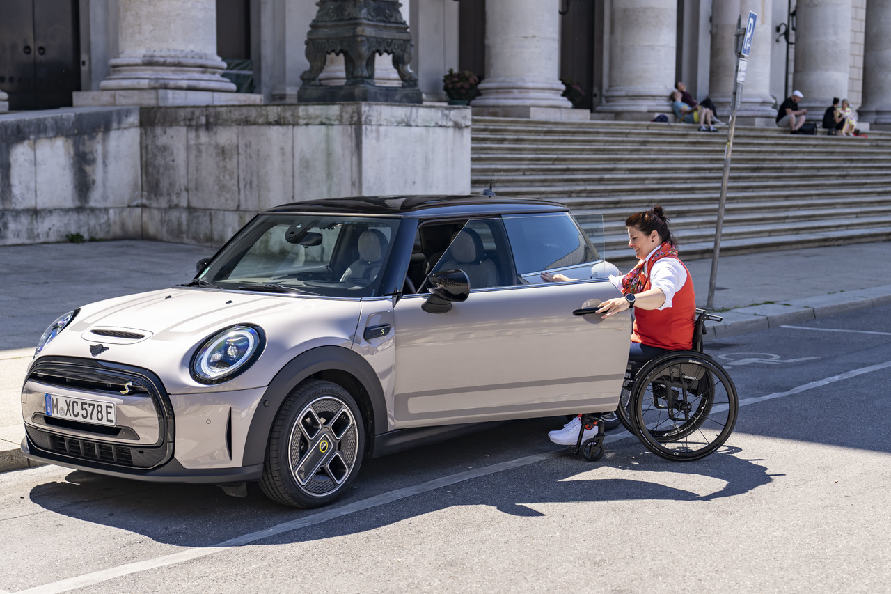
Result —
MULTIPOLYGON (((266 445, 269 441, 269 432, 272 430, 278 411, 282 408, 284 400, 290 392, 304 380, 324 374, 325 372, 342 372, 356 378, 359 388, 364 390, 371 407, 370 418, 367 422, 368 434, 366 435, 366 449, 374 441, 375 433, 387 431, 387 403, 384 400, 383 387, 380 385, 377 373, 362 355, 339 346, 321 346, 310 349, 291 359, 266 387, 266 392, 260 400, 257 412, 250 421, 248 439, 244 444, 244 457, 242 464, 251 466, 263 464, 266 457, 266 445)), ((353 386, 343 386, 347 392, 352 393, 353 386)), ((355 396, 355 394, 354 394, 355 396)), ((363 408, 361 401, 356 402, 359 408, 363 408)))

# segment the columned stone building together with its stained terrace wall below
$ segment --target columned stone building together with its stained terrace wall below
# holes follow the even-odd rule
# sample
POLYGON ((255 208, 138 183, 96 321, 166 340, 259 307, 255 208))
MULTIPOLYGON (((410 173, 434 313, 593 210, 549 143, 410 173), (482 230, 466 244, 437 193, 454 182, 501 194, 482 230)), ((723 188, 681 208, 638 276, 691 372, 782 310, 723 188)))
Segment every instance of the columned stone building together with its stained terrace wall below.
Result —
MULTIPOLYGON (((0 19, 0 244, 215 245, 282 202, 465 194, 471 115, 650 120, 676 80, 723 115, 748 12, 740 123, 773 126, 799 89, 818 117, 847 97, 861 128, 891 128, 887 0, 404 0, 420 105, 299 103, 313 0, 51 4, 0 19), (471 109, 446 104, 450 68, 481 76, 471 109)), ((385 57, 376 84, 400 85, 385 57)), ((318 79, 345 76, 330 55, 318 79)))

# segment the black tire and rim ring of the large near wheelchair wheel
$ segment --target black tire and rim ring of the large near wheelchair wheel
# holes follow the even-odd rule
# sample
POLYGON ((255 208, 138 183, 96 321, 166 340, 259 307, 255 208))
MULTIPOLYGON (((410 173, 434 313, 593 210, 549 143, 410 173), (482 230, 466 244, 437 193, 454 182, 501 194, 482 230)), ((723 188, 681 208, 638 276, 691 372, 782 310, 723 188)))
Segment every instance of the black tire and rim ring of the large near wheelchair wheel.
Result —
MULTIPOLYGON (((641 440, 642 444, 646 446, 648 450, 656 454, 659 458, 683 462, 691 462, 693 460, 705 458, 709 454, 723 446, 724 442, 727 441, 727 438, 729 438, 731 433, 733 433, 733 427, 736 425, 736 418, 740 409, 736 386, 733 384, 733 380, 730 378, 730 375, 727 375, 727 372, 717 361, 715 361, 715 359, 712 359, 711 357, 708 357, 707 355, 698 351, 672 351, 664 355, 660 355, 656 359, 651 360, 649 363, 643 366, 641 371, 637 374, 637 378, 643 378, 644 380, 648 381, 641 382, 640 384, 635 381, 634 390, 631 394, 631 401, 633 405, 631 408, 632 410, 634 410, 633 422, 635 426, 635 434, 637 435, 638 439, 641 440), (715 439, 715 441, 712 441, 707 445, 707 447, 695 452, 667 451, 662 447, 662 444, 659 442, 657 437, 650 433, 650 431, 646 430, 645 428, 637 429, 638 425, 643 424, 643 415, 641 408, 642 394, 646 392, 646 386, 650 383, 648 380, 650 374, 653 372, 654 369, 662 367, 666 362, 670 362, 673 359, 686 359, 686 362, 688 363, 694 363, 701 365, 702 367, 706 367, 707 372, 714 374, 718 378, 718 381, 720 381, 727 390, 728 410, 726 425, 724 425, 723 430, 718 435, 717 439, 715 439)), ((709 405, 709 410, 710 409, 711 405, 709 405)), ((700 417, 701 420, 699 420, 699 425, 701 425, 702 420, 706 418, 707 416, 700 417)), ((697 427, 691 428, 691 430, 685 433, 685 435, 689 435, 690 433, 695 431, 696 428, 699 427, 699 425, 697 425, 697 427)), ((681 439, 681 437, 676 437, 674 439, 681 439)))

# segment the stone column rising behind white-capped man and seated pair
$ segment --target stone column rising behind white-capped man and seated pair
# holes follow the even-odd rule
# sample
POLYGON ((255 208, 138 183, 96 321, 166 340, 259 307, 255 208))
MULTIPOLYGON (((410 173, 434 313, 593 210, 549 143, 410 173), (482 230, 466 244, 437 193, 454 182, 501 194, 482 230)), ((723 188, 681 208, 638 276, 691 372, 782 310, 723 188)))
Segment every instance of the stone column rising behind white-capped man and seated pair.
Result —
POLYGON ((850 56, 851 0, 799 2, 792 88, 805 95, 808 120, 819 121, 833 96, 847 95, 850 56))

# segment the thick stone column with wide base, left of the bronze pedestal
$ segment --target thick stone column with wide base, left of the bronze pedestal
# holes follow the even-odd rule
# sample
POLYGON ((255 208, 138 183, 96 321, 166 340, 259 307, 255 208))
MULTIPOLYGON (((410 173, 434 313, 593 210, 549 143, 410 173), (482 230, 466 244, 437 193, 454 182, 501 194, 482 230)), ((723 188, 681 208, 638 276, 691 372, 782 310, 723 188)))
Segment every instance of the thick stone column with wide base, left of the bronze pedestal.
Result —
POLYGON ((215 0, 119 0, 118 45, 101 90, 75 94, 76 106, 259 103, 222 76, 215 0))

